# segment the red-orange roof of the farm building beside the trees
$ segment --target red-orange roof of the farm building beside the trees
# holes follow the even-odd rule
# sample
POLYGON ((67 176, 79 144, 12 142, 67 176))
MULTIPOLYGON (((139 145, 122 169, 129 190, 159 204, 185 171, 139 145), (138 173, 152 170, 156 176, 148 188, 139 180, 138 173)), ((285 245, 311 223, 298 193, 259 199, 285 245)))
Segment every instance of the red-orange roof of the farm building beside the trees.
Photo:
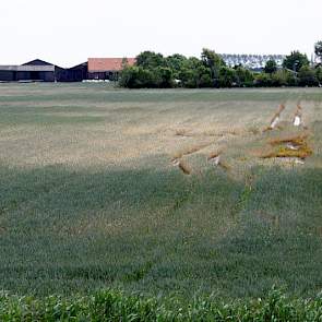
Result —
MULTIPOLYGON (((133 65, 135 58, 127 58, 128 64, 133 65)), ((88 58, 88 72, 121 71, 123 58, 88 58)))

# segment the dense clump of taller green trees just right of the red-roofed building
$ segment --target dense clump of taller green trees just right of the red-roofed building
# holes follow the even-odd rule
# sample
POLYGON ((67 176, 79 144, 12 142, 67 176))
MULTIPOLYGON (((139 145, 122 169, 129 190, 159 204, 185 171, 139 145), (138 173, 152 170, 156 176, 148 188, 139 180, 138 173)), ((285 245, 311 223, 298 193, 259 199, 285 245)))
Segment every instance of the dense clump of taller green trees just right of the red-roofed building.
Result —
POLYGON ((130 88, 231 87, 251 86, 253 80, 252 72, 240 65, 228 68, 220 56, 210 49, 203 49, 201 59, 144 51, 136 57, 134 67, 124 68, 120 85, 130 88))

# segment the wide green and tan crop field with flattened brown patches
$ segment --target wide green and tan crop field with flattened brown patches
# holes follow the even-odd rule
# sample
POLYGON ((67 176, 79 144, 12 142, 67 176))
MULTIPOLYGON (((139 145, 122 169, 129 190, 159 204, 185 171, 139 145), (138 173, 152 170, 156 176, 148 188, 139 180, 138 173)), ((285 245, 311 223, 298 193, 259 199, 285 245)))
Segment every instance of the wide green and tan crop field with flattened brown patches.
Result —
POLYGON ((1 84, 0 259, 19 296, 317 296, 322 90, 1 84))

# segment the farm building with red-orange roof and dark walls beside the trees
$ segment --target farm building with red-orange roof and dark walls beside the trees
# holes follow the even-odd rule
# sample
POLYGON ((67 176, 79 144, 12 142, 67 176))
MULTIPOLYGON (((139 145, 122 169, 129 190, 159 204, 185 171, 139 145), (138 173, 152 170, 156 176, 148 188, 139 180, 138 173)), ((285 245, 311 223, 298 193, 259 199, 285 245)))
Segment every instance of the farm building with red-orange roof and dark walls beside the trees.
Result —
POLYGON ((134 58, 88 58, 88 80, 118 80, 124 65, 134 63, 134 58))

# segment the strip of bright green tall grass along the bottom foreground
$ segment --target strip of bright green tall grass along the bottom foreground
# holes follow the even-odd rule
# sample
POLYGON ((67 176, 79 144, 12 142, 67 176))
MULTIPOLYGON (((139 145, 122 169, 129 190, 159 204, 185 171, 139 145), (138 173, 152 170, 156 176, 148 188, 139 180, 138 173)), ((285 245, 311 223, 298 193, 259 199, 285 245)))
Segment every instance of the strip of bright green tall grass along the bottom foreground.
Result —
POLYGON ((219 302, 194 298, 144 298, 117 291, 41 300, 0 296, 1 321, 322 321, 322 298, 289 299, 278 290, 267 298, 219 302))

